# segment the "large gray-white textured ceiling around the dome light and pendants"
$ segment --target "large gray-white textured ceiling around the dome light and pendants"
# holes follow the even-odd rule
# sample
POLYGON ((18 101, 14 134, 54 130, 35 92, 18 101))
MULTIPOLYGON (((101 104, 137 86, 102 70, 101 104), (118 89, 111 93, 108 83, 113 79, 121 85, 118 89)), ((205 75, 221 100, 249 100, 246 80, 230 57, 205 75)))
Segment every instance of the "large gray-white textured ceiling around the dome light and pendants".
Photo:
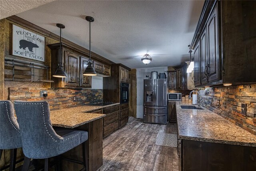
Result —
POLYGON ((176 66, 189 60, 204 1, 63 1, 57 0, 17 16, 130 68, 176 66), (141 62, 143 54, 152 62, 141 62))

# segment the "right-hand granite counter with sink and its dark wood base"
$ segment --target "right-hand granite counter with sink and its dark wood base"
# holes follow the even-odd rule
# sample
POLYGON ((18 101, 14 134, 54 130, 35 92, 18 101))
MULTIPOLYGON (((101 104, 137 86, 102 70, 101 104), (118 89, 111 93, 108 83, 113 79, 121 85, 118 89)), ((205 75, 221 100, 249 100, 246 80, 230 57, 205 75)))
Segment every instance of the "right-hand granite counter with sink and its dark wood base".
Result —
POLYGON ((255 170, 256 135, 208 109, 176 101, 181 170, 255 170))

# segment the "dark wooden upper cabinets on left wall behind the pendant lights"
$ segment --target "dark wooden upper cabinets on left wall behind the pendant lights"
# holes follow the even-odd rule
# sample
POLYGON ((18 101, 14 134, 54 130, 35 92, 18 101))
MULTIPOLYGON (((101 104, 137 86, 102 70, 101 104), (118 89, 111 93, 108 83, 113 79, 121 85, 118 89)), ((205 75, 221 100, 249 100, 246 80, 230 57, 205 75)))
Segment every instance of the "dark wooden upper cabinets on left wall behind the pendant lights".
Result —
MULTIPOLYGON (((60 60, 60 44, 50 44, 48 47, 52 50, 51 60, 51 73, 54 73, 60 60)), ((79 47, 78 47, 79 48, 79 47)), ((92 76, 84 76, 83 72, 88 66, 89 56, 87 53, 82 52, 79 49, 73 48, 66 44, 62 44, 62 64, 63 69, 66 73, 66 78, 55 78, 51 83, 51 87, 69 87, 69 88, 91 88, 92 87, 92 76)), ((101 57, 103 58, 103 57, 101 57)), ((93 59, 93 58, 92 58, 93 59)), ((98 59, 97 59, 98 60, 98 59)), ((104 58, 103 58, 104 60, 104 58)), ((106 59, 106 61, 108 61, 106 59)), ((107 77, 110 76, 110 65, 104 61, 95 61, 95 71, 98 76, 107 77)))

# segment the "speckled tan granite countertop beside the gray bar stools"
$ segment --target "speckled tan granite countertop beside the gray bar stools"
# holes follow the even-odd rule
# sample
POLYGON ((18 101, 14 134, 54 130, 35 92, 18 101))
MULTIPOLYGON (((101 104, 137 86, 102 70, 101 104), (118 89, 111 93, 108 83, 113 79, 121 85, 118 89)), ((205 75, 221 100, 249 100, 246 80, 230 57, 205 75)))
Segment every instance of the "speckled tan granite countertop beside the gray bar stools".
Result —
POLYGON ((53 110, 51 111, 50 119, 53 126, 75 128, 106 116, 105 114, 86 112, 118 104, 119 103, 113 103, 105 106, 82 105, 77 107, 53 110))

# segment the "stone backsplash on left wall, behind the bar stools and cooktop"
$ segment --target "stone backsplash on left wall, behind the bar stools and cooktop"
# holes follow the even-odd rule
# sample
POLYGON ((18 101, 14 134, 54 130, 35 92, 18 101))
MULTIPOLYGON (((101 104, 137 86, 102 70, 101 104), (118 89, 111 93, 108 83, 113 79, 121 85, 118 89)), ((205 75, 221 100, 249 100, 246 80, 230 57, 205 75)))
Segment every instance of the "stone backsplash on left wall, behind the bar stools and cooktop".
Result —
POLYGON ((102 102, 102 89, 67 89, 67 88, 9 88, 9 99, 24 101, 48 101, 51 110, 75 107, 89 103, 102 102), (40 90, 47 90, 48 97, 40 97, 40 90), (76 96, 76 101, 73 101, 76 96))

